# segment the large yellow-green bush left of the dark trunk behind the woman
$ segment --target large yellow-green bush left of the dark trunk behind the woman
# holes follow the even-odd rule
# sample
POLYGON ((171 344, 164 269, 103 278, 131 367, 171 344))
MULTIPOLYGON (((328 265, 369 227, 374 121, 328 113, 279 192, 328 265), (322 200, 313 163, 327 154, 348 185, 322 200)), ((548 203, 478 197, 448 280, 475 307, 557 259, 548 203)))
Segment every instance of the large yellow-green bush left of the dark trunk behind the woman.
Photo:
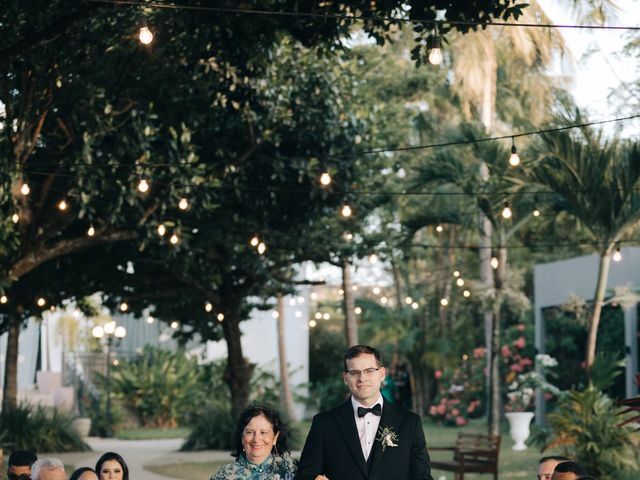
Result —
POLYGON ((145 346, 135 360, 112 368, 111 388, 143 426, 174 428, 197 404, 200 374, 183 351, 145 346))

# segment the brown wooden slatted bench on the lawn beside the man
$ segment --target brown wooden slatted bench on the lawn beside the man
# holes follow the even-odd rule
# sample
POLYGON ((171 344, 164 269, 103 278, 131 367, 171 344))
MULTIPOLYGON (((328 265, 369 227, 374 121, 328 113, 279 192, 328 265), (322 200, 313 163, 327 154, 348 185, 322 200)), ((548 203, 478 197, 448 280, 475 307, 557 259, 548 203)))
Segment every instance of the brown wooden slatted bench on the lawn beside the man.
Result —
POLYGON ((429 447, 430 452, 453 451, 452 460, 431 460, 431 468, 455 473, 463 480, 465 473, 493 473, 498 480, 500 436, 459 433, 453 447, 429 447))

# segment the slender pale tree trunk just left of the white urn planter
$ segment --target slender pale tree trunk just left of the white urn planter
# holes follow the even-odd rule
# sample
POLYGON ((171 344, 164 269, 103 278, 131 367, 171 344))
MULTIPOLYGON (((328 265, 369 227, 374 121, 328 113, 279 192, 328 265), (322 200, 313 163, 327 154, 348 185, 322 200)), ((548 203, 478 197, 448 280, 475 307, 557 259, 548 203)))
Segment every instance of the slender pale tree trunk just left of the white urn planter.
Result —
POLYGON ((493 302, 493 318, 491 329, 491 363, 489 369, 490 378, 490 404, 489 404, 489 434, 500 434, 500 312, 502 307, 502 287, 507 270, 507 249, 498 249, 498 268, 495 272, 495 300, 493 302))

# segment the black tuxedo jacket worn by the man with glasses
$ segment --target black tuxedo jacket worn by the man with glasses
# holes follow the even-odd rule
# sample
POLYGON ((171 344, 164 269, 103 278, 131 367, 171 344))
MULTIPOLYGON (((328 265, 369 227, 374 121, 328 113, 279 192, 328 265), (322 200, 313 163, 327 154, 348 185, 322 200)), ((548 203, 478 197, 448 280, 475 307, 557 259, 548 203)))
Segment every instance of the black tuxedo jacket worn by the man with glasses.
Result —
POLYGON ((351 399, 313 418, 297 480, 323 474, 329 480, 433 480, 420 417, 384 402, 380 428, 391 427, 397 447, 382 451, 375 441, 366 462, 358 439, 351 399))

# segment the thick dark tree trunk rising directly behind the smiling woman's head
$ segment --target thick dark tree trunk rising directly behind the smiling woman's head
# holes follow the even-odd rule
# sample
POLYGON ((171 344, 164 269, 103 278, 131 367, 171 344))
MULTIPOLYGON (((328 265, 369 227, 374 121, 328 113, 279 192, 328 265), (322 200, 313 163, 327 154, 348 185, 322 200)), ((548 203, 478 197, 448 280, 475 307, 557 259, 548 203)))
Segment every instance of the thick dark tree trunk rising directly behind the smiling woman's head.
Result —
MULTIPOLYGON (((233 300, 235 299, 231 299, 233 300)), ((226 307, 222 322, 224 339, 227 343, 227 368, 224 379, 231 391, 231 413, 237 418, 249 405, 249 383, 255 365, 249 363, 242 354, 240 305, 227 303, 226 307)))

